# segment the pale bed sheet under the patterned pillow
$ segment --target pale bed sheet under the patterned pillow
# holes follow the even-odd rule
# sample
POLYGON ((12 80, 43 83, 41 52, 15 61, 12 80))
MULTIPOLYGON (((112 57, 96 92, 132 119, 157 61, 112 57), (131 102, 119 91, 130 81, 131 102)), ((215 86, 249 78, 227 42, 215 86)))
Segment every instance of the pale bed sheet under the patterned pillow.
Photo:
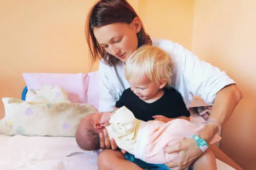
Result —
MULTIPOLYGON (((218 170, 234 170, 217 160, 218 170)), ((97 153, 67 137, 0 135, 0 170, 98 170, 97 153)))

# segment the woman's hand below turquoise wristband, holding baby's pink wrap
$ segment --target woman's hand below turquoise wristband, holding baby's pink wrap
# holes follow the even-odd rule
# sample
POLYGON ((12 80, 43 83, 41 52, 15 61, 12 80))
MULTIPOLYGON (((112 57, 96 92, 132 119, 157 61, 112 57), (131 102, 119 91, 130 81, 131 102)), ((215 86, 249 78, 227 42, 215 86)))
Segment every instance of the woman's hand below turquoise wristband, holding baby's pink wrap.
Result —
POLYGON ((169 168, 179 167, 181 169, 188 168, 198 157, 202 155, 202 151, 198 148, 195 140, 184 138, 179 143, 165 147, 166 153, 179 152, 177 158, 165 165, 169 168))

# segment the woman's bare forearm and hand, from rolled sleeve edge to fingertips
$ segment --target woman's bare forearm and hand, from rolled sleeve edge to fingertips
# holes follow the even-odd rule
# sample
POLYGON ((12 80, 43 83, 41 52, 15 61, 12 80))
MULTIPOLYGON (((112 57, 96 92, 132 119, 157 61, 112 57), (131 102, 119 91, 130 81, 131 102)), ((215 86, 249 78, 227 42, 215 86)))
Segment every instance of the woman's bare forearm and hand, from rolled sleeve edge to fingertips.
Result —
MULTIPOLYGON (((216 118, 220 124, 225 123, 242 97, 242 93, 236 85, 233 84, 224 87, 216 95, 214 107, 212 107, 210 117, 216 118)), ((200 134, 200 137, 205 139, 207 143, 210 143, 216 133, 218 133, 217 125, 206 125, 200 134)), ((170 168, 177 166, 187 168, 192 162, 194 162, 195 159, 202 155, 202 151, 197 147, 195 140, 193 139, 182 140, 180 143, 167 146, 165 150, 166 153, 179 152, 179 157, 177 159, 166 164, 170 168)), ((223 160, 223 162, 225 162, 225 160, 223 160)), ((229 161, 228 164, 233 168, 240 168, 238 165, 236 166, 236 163, 231 164, 229 161)))

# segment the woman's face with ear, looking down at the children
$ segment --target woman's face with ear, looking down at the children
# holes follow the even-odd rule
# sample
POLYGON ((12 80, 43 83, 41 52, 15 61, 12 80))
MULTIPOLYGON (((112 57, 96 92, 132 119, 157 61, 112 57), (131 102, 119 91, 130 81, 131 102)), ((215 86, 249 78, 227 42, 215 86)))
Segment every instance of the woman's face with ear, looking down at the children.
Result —
POLYGON ((141 30, 141 23, 138 18, 134 18, 131 24, 113 23, 94 28, 94 35, 105 50, 126 62, 131 54, 137 50, 138 37, 137 33, 141 30))

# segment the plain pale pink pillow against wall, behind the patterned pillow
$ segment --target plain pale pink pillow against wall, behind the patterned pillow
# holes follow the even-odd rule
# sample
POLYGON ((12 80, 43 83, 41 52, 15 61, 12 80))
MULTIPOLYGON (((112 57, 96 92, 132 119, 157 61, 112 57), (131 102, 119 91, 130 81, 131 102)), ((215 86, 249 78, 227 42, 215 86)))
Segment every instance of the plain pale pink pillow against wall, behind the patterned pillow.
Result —
POLYGON ((58 74, 23 73, 28 89, 38 90, 44 85, 56 85, 69 93, 69 101, 87 103, 99 108, 99 73, 58 74))

